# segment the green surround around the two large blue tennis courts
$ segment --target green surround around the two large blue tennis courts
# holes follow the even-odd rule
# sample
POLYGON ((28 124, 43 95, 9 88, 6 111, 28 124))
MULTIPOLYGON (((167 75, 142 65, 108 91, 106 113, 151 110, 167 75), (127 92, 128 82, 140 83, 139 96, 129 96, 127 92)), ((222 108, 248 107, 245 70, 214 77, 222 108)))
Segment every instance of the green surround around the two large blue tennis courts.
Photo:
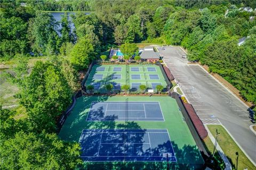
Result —
MULTIPOLYGON (((192 165, 196 169, 196 167, 204 163, 177 102, 170 96, 82 96, 77 99, 76 105, 62 126, 59 136, 62 140, 78 142, 83 129, 167 129, 177 158, 177 163, 171 163, 173 166, 177 167, 177 169, 183 169, 192 165), (86 121, 92 102, 124 102, 127 100, 133 102, 159 102, 165 121, 86 121)), ((110 169, 120 169, 118 167, 121 165, 135 168, 143 166, 148 167, 148 169, 154 169, 164 168, 167 164, 166 162, 133 162, 126 164, 105 162, 88 163, 88 165, 93 165, 93 167, 102 167, 104 165, 110 169)), ((86 164, 86 166, 88 165, 86 164)), ((123 167, 122 169, 126 168, 123 167)))

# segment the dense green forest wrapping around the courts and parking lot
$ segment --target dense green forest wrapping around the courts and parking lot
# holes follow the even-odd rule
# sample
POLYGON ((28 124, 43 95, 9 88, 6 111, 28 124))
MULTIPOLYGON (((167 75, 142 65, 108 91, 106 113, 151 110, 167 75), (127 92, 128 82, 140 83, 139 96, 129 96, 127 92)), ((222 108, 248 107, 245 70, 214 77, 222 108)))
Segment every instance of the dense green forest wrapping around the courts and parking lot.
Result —
POLYGON ((0 1, 1 61, 19 59, 17 98, 27 117, 1 108, 3 169, 75 169, 79 145, 57 136, 57 119, 79 88, 77 72, 123 43, 181 45, 256 103, 256 1, 0 1), (46 11, 95 11, 62 15, 46 11), (75 25, 72 31, 70 22, 75 25), (61 25, 61 29, 59 29, 61 25), (59 34, 61 33, 61 34, 59 34), (238 46, 238 39, 246 41, 238 46), (37 61, 33 70, 28 59, 37 61), (37 155, 31 158, 31 155, 37 155))

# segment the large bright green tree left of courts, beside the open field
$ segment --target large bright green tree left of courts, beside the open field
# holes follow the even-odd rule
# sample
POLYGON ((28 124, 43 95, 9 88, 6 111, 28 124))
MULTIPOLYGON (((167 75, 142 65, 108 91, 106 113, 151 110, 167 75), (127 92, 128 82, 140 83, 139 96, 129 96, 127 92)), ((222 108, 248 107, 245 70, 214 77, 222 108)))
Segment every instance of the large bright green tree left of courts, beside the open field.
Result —
POLYGON ((59 66, 37 61, 23 80, 20 104, 26 108, 35 131, 55 132, 58 117, 71 103, 71 87, 59 66))

